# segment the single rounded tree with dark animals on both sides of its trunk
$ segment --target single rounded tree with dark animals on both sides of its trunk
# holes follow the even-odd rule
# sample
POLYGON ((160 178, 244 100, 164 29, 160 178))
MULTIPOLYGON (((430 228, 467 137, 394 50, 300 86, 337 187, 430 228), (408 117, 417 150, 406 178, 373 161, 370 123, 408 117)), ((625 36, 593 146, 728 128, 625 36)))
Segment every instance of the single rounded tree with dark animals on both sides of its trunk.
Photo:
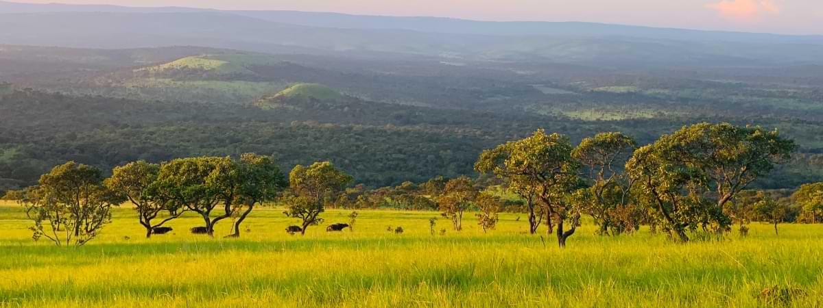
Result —
POLYGON ((283 214, 300 218, 300 234, 305 234, 306 228, 323 222, 319 214, 323 213, 325 205, 337 200, 337 195, 352 179, 330 162, 295 166, 289 173, 289 193, 284 198, 288 209, 283 214))

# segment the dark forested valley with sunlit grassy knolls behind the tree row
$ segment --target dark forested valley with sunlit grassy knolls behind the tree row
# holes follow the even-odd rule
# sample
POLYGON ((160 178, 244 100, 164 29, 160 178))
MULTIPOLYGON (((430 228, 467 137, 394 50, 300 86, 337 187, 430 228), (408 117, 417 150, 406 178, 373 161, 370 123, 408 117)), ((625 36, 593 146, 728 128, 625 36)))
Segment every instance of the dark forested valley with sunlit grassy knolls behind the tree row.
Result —
POLYGON ((639 144, 695 122, 778 129, 790 163, 755 185, 823 180, 819 67, 616 69, 443 63, 213 48, 5 45, 0 189, 74 160, 102 170, 145 159, 253 152, 281 167, 328 160, 365 186, 476 175, 477 154, 537 130, 573 143, 622 131, 639 144))

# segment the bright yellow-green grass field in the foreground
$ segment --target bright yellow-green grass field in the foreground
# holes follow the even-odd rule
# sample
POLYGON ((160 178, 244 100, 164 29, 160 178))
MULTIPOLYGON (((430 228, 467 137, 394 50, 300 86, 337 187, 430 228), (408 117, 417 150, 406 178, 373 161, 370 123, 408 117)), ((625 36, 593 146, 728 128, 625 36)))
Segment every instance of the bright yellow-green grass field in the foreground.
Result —
MULTIPOLYGON (((349 211, 329 210, 326 223, 349 211)), ((21 207, 0 205, 0 306, 504 307, 823 306, 823 226, 754 223, 748 237, 676 244, 648 229, 598 237, 590 222, 564 250, 526 234, 504 214, 484 234, 467 214, 463 232, 434 212, 363 210, 354 232, 289 236, 281 209, 257 209, 249 231, 227 239, 188 234, 201 221, 146 240, 130 209, 80 248, 34 242, 21 207), (387 232, 402 226, 405 232, 387 232), (440 235, 440 229, 447 229, 440 235), (769 302, 768 287, 793 290, 769 302)), ((545 228, 543 228, 545 231, 545 228)), ((774 297, 773 297, 774 298, 774 297)))

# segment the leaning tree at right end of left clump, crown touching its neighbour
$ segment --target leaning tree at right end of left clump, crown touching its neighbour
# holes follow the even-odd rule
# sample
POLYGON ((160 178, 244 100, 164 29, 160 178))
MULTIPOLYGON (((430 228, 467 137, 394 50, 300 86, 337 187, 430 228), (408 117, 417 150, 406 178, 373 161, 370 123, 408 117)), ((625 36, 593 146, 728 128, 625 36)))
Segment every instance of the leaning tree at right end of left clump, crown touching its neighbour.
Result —
POLYGON ((239 161, 233 163, 234 172, 229 173, 225 182, 235 189, 235 199, 231 213, 238 216, 235 220, 234 233, 230 237, 240 236, 240 223, 249 216, 255 205, 274 200, 286 188, 286 176, 280 171, 272 156, 242 154, 239 161))

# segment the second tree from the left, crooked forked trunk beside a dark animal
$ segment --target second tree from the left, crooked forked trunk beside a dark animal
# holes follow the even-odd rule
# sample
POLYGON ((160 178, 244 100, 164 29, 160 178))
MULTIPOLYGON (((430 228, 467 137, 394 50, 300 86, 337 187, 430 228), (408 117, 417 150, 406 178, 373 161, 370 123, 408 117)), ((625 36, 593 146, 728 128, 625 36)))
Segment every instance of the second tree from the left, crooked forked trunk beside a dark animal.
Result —
POLYGON ((152 186, 157 181, 158 173, 160 165, 141 160, 115 167, 112 176, 104 182, 109 190, 117 191, 131 201, 140 224, 146 228, 146 238, 151 237, 154 228, 163 226, 184 213, 179 204, 171 202, 169 195, 152 186), (168 215, 160 223, 151 223, 162 212, 167 212, 168 215))

